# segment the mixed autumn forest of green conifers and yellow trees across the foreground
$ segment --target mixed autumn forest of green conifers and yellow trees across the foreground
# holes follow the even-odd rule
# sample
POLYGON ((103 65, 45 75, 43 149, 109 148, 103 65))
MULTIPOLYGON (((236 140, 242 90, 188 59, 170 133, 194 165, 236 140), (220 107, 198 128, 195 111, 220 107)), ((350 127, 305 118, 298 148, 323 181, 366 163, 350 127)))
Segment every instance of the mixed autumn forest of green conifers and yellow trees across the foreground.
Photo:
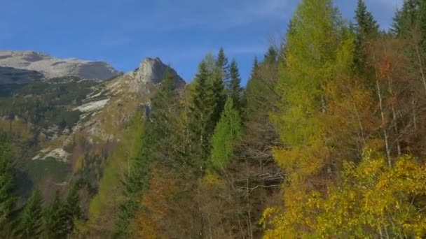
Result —
POLYGON ((364 0, 302 0, 253 61, 245 87, 224 49, 184 89, 166 73, 90 196, 19 198, 1 133, 0 237, 425 238, 426 1, 383 31, 364 0))

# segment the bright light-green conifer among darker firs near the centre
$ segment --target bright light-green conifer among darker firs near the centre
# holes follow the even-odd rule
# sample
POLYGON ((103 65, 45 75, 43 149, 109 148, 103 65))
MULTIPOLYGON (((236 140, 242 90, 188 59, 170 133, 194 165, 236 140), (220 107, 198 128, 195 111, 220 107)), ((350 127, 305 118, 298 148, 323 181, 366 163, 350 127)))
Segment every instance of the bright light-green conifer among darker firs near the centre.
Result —
POLYGON ((228 98, 221 119, 214 129, 212 136, 212 153, 210 167, 220 170, 231 159, 233 144, 242 133, 240 113, 233 105, 233 99, 228 98))

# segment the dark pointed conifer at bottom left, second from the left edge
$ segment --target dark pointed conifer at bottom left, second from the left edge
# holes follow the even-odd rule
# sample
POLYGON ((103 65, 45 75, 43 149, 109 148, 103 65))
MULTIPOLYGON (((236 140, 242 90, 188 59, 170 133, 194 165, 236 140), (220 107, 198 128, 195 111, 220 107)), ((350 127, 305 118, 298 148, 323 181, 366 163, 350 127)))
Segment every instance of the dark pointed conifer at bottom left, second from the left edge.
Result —
POLYGON ((22 219, 21 231, 24 238, 39 238, 43 226, 43 197, 41 191, 36 189, 25 205, 22 219))

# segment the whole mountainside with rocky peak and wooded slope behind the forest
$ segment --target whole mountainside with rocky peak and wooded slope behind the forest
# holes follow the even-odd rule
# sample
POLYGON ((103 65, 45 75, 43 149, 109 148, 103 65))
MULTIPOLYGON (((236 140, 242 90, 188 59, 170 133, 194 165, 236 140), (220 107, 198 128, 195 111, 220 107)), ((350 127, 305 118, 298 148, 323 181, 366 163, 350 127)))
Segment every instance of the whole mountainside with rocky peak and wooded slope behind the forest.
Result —
POLYGON ((130 119, 149 113, 150 99, 166 71, 178 88, 184 80, 160 59, 104 82, 76 77, 9 84, 0 94, 0 130, 21 142, 22 164, 50 195, 73 175, 96 185, 107 157, 130 119), (90 161, 90 163, 88 163, 90 161))

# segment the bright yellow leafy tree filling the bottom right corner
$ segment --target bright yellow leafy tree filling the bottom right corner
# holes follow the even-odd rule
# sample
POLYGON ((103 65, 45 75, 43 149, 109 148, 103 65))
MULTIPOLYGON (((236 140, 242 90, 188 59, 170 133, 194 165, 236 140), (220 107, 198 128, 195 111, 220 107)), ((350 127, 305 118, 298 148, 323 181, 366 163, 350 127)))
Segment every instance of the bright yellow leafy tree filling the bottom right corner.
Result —
POLYGON ((327 196, 313 191, 297 201, 298 213, 269 208, 265 238, 422 238, 426 233, 426 166, 413 157, 395 160, 364 154, 359 165, 345 162, 341 180, 327 196))

